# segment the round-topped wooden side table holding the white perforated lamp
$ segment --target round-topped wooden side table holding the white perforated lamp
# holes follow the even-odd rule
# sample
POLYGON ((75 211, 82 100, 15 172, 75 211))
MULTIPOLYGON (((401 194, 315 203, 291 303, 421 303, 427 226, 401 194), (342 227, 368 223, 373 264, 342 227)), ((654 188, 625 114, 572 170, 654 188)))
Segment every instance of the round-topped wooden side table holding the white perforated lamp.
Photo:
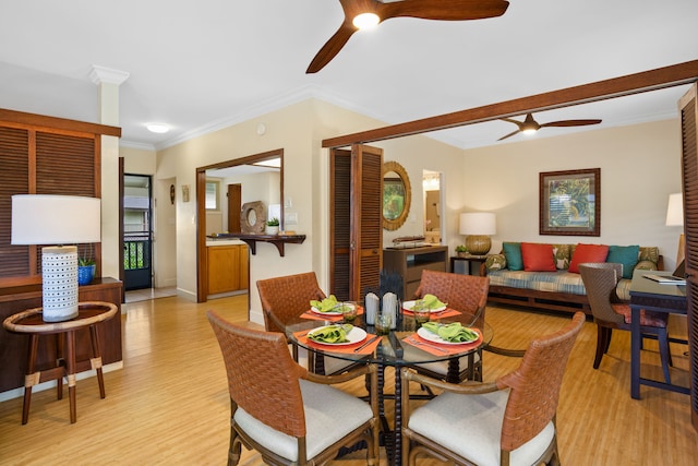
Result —
POLYGON ((43 308, 29 309, 10 315, 3 322, 9 332, 25 333, 29 339, 29 359, 27 362, 26 377, 24 380, 24 405, 22 408, 22 423, 25 425, 29 418, 29 405, 32 403, 32 387, 38 383, 57 380, 58 399, 63 397, 63 377, 68 379, 68 393, 70 397, 70 422, 77 419, 75 408, 75 374, 83 370, 95 369, 99 382, 99 395, 105 394, 105 380, 101 371, 101 354, 99 351, 99 338, 97 324, 111 319, 117 313, 117 307, 110 302, 93 301, 79 303, 77 316, 64 322, 44 322, 41 319, 43 308), (88 361, 75 362, 75 332, 82 328, 89 328, 92 340, 92 359, 88 361), (38 349, 39 336, 56 334, 56 367, 35 371, 36 354, 38 349), (65 347, 65 357, 63 356, 65 347))

